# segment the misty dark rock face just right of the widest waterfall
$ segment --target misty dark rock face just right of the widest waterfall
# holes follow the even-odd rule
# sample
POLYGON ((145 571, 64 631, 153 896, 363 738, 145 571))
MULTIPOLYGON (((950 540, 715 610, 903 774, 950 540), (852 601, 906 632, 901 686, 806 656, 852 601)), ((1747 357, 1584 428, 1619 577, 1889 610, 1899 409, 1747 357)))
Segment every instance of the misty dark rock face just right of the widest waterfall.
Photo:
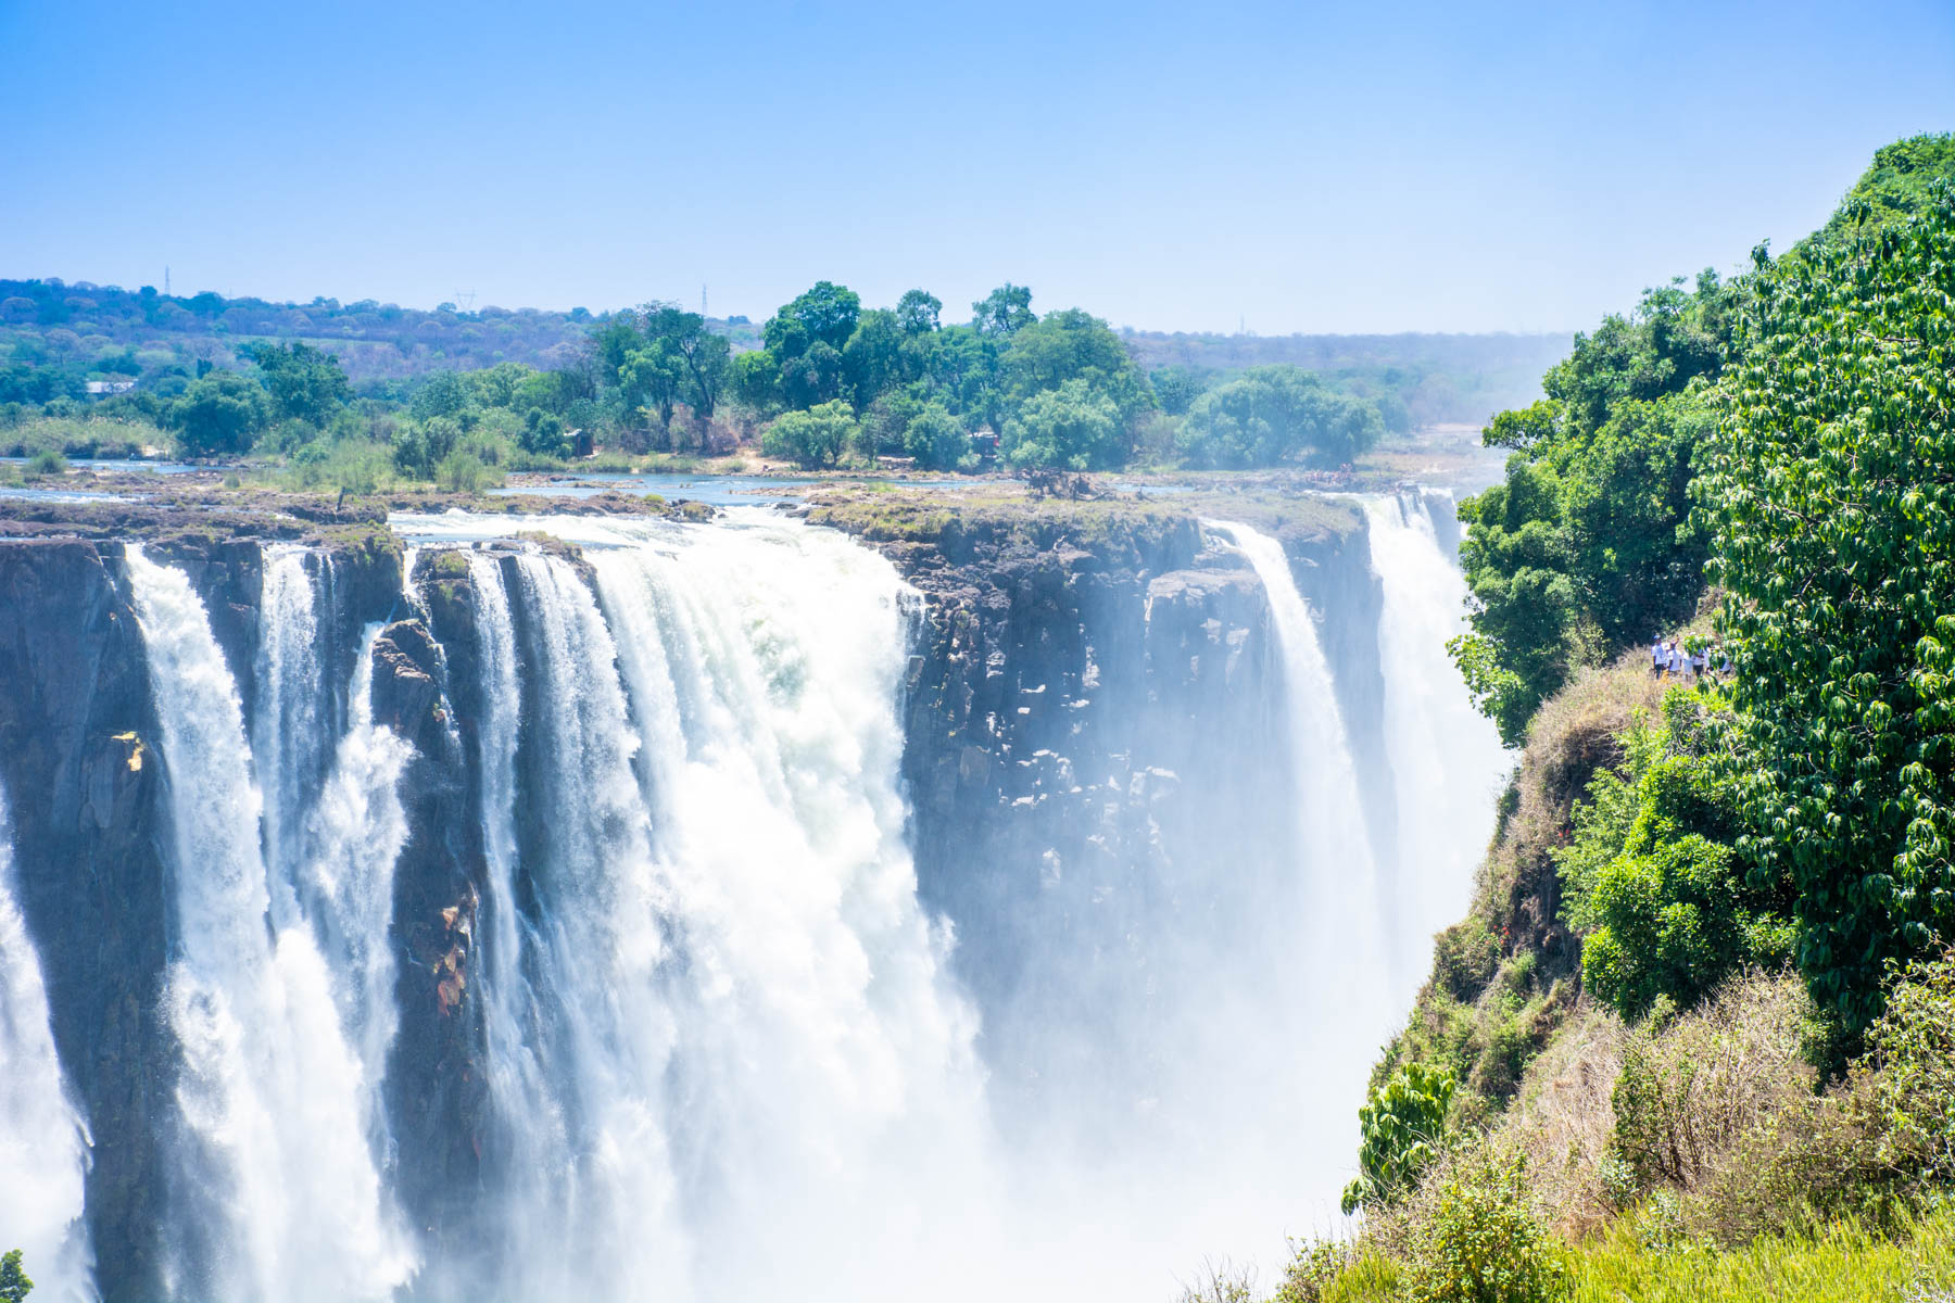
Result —
MULTIPOLYGON (((1230 865, 1284 844, 1282 670, 1253 570, 1189 520, 1118 557, 970 537, 872 545, 923 594, 903 701, 919 887, 958 930, 995 1086, 1024 1080, 1030 1098, 1042 1002, 1146 1010, 1169 957, 1136 946, 1161 932, 1144 918, 1224 916, 1241 891, 1230 865)), ((1333 613, 1325 654, 1355 686, 1347 717, 1376 715, 1382 684, 1345 674, 1378 676, 1363 533, 1284 543, 1304 594, 1333 613)), ((1151 1053, 1144 1012, 1079 1047, 1101 1063, 1151 1053)))

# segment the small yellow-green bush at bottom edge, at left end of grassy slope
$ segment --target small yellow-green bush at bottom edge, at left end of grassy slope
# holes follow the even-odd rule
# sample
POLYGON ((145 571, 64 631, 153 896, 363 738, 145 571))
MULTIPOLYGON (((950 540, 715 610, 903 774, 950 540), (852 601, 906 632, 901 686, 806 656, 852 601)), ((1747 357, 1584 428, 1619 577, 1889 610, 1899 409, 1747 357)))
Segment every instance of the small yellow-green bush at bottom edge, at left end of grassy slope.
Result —
POLYGON ((1494 1145, 1466 1149, 1439 1174, 1408 1260, 1410 1303, 1546 1303, 1568 1293, 1568 1270, 1527 1194, 1527 1166, 1494 1145))

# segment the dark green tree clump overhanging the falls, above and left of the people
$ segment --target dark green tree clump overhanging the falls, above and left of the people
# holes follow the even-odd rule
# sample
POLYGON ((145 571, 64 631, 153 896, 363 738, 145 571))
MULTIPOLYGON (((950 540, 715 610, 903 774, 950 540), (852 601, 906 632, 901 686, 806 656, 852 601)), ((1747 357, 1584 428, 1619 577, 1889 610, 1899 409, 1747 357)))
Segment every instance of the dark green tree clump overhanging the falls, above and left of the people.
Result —
POLYGON ((1449 643, 1476 705, 1515 746, 1574 670, 1685 621, 1703 590, 1691 479, 1713 412, 1703 383, 1730 352, 1742 285, 1715 272, 1644 293, 1501 412, 1501 484, 1460 504, 1472 633, 1449 643))

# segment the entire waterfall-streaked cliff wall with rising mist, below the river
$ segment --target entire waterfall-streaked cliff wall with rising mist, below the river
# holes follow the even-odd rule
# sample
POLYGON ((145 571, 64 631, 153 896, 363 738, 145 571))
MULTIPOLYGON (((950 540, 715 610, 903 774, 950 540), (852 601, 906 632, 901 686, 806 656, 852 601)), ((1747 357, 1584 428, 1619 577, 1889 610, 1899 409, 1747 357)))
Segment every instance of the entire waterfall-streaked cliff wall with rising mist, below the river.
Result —
POLYGON ((309 512, 0 539, 51 1297, 1150 1297, 1329 1225, 1507 766, 1447 494, 309 512))

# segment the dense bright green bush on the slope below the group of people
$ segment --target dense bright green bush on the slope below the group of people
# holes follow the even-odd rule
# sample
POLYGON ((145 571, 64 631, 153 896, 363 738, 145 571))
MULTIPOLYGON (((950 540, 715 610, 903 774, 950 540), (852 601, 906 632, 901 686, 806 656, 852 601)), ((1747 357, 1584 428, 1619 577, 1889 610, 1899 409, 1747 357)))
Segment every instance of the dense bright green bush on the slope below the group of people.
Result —
POLYGON ((1584 934, 1582 981, 1625 1018, 1658 996, 1695 1004, 1734 969, 1791 955, 1789 901, 1738 863, 1738 789, 1720 754, 1730 711, 1675 688, 1662 725, 1638 711, 1627 758, 1589 781, 1574 836, 1554 852, 1568 926, 1584 934))

